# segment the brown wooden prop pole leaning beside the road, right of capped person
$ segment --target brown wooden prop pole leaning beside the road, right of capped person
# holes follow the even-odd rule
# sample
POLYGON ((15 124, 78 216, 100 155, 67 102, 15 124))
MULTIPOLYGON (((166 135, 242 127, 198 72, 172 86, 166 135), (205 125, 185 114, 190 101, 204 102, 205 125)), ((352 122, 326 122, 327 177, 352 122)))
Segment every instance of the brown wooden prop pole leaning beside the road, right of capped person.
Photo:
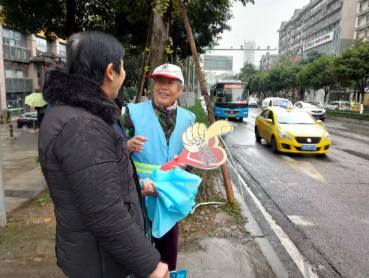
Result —
MULTIPOLYGON (((214 109, 213 109, 213 105, 211 104, 211 101, 210 101, 210 95, 209 95, 209 93, 206 89, 204 76, 202 76, 198 51, 196 51, 195 41, 193 40, 193 35, 192 35, 191 27, 189 25, 189 19, 187 17, 186 8, 185 8, 185 5, 183 4, 182 0, 178 0, 178 3, 179 3, 180 11, 182 13, 182 19, 183 19, 183 22, 185 23, 185 27, 186 27, 186 30, 187 30, 187 36, 189 38, 189 43, 191 45, 192 58, 193 58, 193 62, 195 64, 196 72, 198 73, 198 78, 199 78, 201 91, 202 91, 201 93, 204 96, 204 100, 205 100, 205 103, 206 103, 206 111, 208 112, 208 117, 209 117, 210 124, 213 124, 215 122, 215 117, 214 117, 214 112, 213 112, 214 109)), ((233 194, 233 187, 232 187, 232 183, 230 181, 227 164, 224 163, 221 166, 221 169, 222 169, 224 187, 226 187, 227 201, 228 201, 228 204, 230 204, 230 202, 233 202, 235 200, 235 194, 233 194)))

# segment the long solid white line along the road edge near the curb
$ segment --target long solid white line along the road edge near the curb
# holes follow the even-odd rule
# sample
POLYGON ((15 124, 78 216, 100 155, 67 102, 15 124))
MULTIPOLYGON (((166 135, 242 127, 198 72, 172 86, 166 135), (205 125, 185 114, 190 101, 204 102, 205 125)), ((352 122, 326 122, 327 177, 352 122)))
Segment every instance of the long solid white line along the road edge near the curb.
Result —
MULTIPOLYGON (((230 165, 233 168, 233 165, 230 165)), ((233 168, 233 171, 236 173, 235 168, 233 168)), ((255 196, 254 192, 248 187, 246 182, 243 180, 240 174, 238 174, 239 179, 243 185, 243 187, 246 188, 248 194, 250 194, 252 200, 254 200, 255 204, 257 205, 258 209, 263 214, 265 220, 267 220, 267 223, 270 225, 270 227, 273 229, 274 233, 278 237, 278 239, 281 241, 281 244, 285 247, 285 250, 291 257, 291 259, 294 261, 300 272, 305 278, 319 278, 319 276, 313 272, 313 268, 311 267, 311 264, 305 259, 305 257, 300 253, 294 242, 291 241, 287 233, 283 231, 283 229, 276 224, 276 221, 272 218, 272 216, 266 211, 265 207, 261 204, 260 200, 255 196)))

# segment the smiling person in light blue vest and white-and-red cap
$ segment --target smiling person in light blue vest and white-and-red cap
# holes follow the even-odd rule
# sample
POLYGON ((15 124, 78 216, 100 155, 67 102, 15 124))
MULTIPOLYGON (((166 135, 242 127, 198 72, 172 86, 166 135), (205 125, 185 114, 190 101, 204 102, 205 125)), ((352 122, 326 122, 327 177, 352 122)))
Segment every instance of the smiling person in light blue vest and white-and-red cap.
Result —
MULTIPOLYGON (((154 100, 128 106, 123 117, 128 149, 140 178, 151 178, 152 171, 174 159, 183 150, 181 134, 195 123, 195 115, 177 105, 184 89, 180 67, 171 64, 157 67, 154 78, 154 100)), ((180 163, 182 170, 187 164, 180 163)), ((156 194, 154 183, 145 181, 143 196, 156 194)), ((178 251, 178 223, 162 238, 154 238, 161 261, 175 270, 178 251)))

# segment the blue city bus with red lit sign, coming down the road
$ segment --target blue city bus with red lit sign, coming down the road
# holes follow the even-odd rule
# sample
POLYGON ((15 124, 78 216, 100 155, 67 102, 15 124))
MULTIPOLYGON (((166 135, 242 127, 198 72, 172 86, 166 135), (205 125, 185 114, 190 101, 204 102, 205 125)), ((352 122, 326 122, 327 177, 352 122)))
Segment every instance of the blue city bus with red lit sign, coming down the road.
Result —
POLYGON ((225 80, 217 82, 210 89, 215 118, 248 117, 249 86, 246 82, 225 80))

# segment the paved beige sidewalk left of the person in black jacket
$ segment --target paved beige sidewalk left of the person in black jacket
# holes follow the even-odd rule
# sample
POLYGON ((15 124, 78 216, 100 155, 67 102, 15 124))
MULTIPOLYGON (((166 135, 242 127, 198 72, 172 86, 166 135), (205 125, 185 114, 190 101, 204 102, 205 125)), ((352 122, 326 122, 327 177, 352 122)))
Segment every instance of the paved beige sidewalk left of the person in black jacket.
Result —
POLYGON ((12 121, 15 140, 9 140, 8 123, 0 125, 3 154, 3 183, 7 213, 31 200, 46 187, 45 178, 36 165, 38 130, 16 128, 12 121))

